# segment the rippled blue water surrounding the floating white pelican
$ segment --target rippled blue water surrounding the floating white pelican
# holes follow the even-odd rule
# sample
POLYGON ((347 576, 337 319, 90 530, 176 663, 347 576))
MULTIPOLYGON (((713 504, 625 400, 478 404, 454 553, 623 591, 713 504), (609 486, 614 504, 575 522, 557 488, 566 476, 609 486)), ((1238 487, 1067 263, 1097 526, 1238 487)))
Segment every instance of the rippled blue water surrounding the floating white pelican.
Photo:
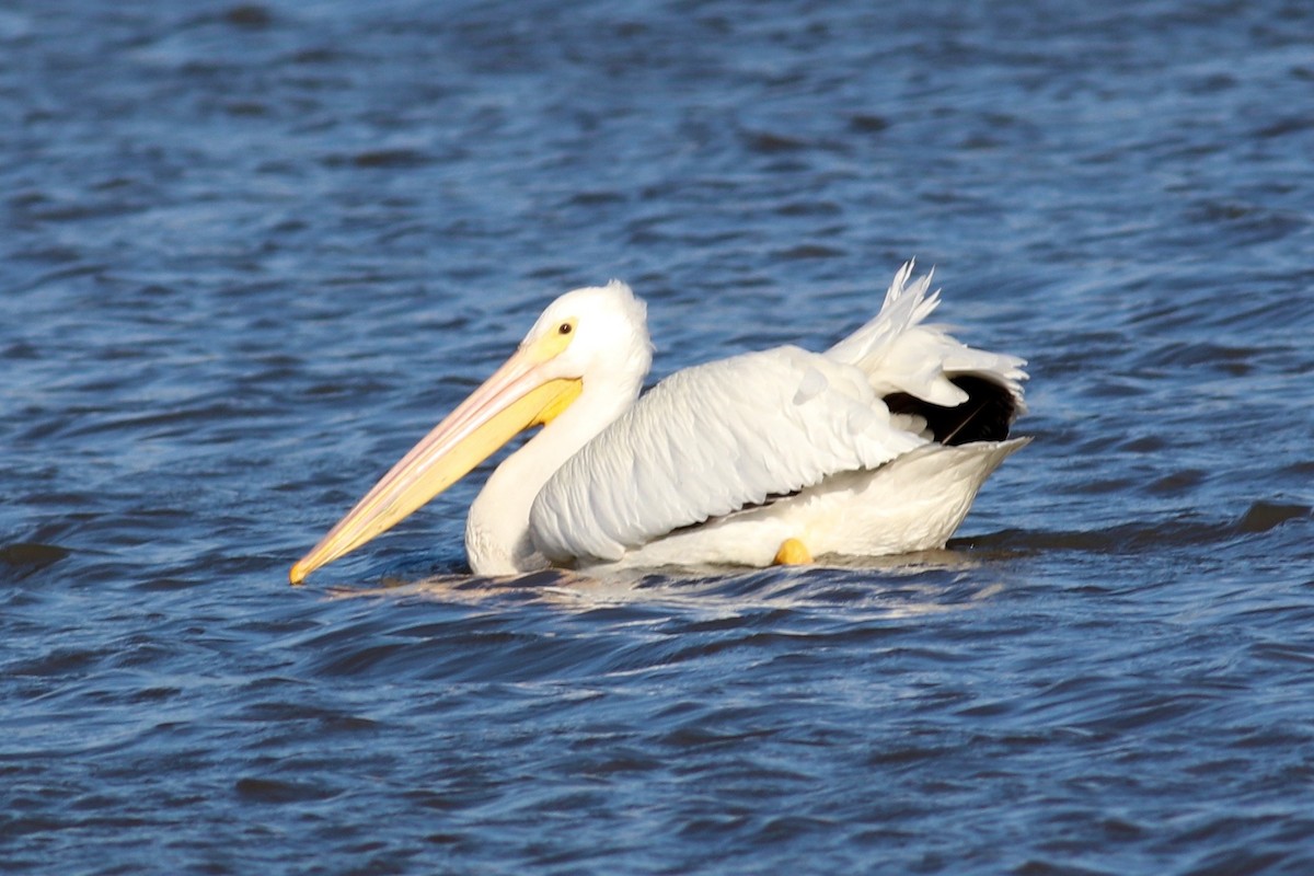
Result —
POLYGON ((1306 3, 0 8, 0 869, 1314 872, 1306 3), (654 376, 937 265, 946 552, 288 566, 565 289, 654 376))

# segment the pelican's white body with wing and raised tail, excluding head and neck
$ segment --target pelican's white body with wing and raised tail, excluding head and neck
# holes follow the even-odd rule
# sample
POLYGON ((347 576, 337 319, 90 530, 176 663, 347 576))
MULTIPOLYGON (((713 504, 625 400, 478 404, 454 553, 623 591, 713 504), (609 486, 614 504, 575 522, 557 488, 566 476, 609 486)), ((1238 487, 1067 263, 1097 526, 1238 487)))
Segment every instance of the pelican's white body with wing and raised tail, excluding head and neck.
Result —
MULTIPOLYGON (((883 399, 954 407, 968 397, 951 378, 975 376, 1016 414, 1026 376, 1022 360, 926 324, 937 296, 929 276, 909 285, 911 269, 871 322, 824 353, 779 347, 661 381, 547 477, 516 569, 762 566, 786 538, 813 556, 943 546, 1026 439, 945 445, 883 399)), ((507 571, 481 567, 476 552, 476 571, 507 571)))

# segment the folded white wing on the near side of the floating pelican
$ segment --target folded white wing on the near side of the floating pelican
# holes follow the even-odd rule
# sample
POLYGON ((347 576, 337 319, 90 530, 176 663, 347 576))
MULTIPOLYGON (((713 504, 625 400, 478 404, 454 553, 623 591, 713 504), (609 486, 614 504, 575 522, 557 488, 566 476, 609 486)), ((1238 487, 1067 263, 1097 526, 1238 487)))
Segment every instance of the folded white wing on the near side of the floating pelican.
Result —
POLYGON ((925 443, 891 423, 855 365, 796 347, 745 353, 657 383, 547 482, 530 531, 549 559, 615 561, 925 443))

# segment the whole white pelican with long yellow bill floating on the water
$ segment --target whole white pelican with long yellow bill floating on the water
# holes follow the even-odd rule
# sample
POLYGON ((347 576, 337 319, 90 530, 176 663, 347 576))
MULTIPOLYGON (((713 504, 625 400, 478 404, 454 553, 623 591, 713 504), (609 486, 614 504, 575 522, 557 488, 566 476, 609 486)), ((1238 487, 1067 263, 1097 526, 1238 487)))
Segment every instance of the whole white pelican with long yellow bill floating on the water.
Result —
POLYGON ((874 319, 825 351, 777 347, 677 372, 652 364, 629 288, 576 289, 297 565, 292 582, 386 531, 518 432, 470 506, 478 574, 549 565, 807 562, 943 546, 1029 439, 1021 359, 925 323, 930 274, 895 276, 874 319))

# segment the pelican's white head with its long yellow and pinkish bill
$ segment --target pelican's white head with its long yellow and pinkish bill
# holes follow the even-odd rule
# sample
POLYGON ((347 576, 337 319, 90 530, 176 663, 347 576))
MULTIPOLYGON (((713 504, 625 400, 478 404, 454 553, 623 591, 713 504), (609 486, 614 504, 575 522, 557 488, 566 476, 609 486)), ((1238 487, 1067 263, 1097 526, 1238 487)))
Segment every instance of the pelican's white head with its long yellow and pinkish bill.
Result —
MULTIPOLYGON (((556 420, 582 394, 600 386, 633 402, 650 364, 646 309, 629 286, 612 280, 561 296, 515 353, 292 567, 292 583, 386 532, 519 432, 556 420)), ((594 423, 576 449, 606 424, 594 423)))

